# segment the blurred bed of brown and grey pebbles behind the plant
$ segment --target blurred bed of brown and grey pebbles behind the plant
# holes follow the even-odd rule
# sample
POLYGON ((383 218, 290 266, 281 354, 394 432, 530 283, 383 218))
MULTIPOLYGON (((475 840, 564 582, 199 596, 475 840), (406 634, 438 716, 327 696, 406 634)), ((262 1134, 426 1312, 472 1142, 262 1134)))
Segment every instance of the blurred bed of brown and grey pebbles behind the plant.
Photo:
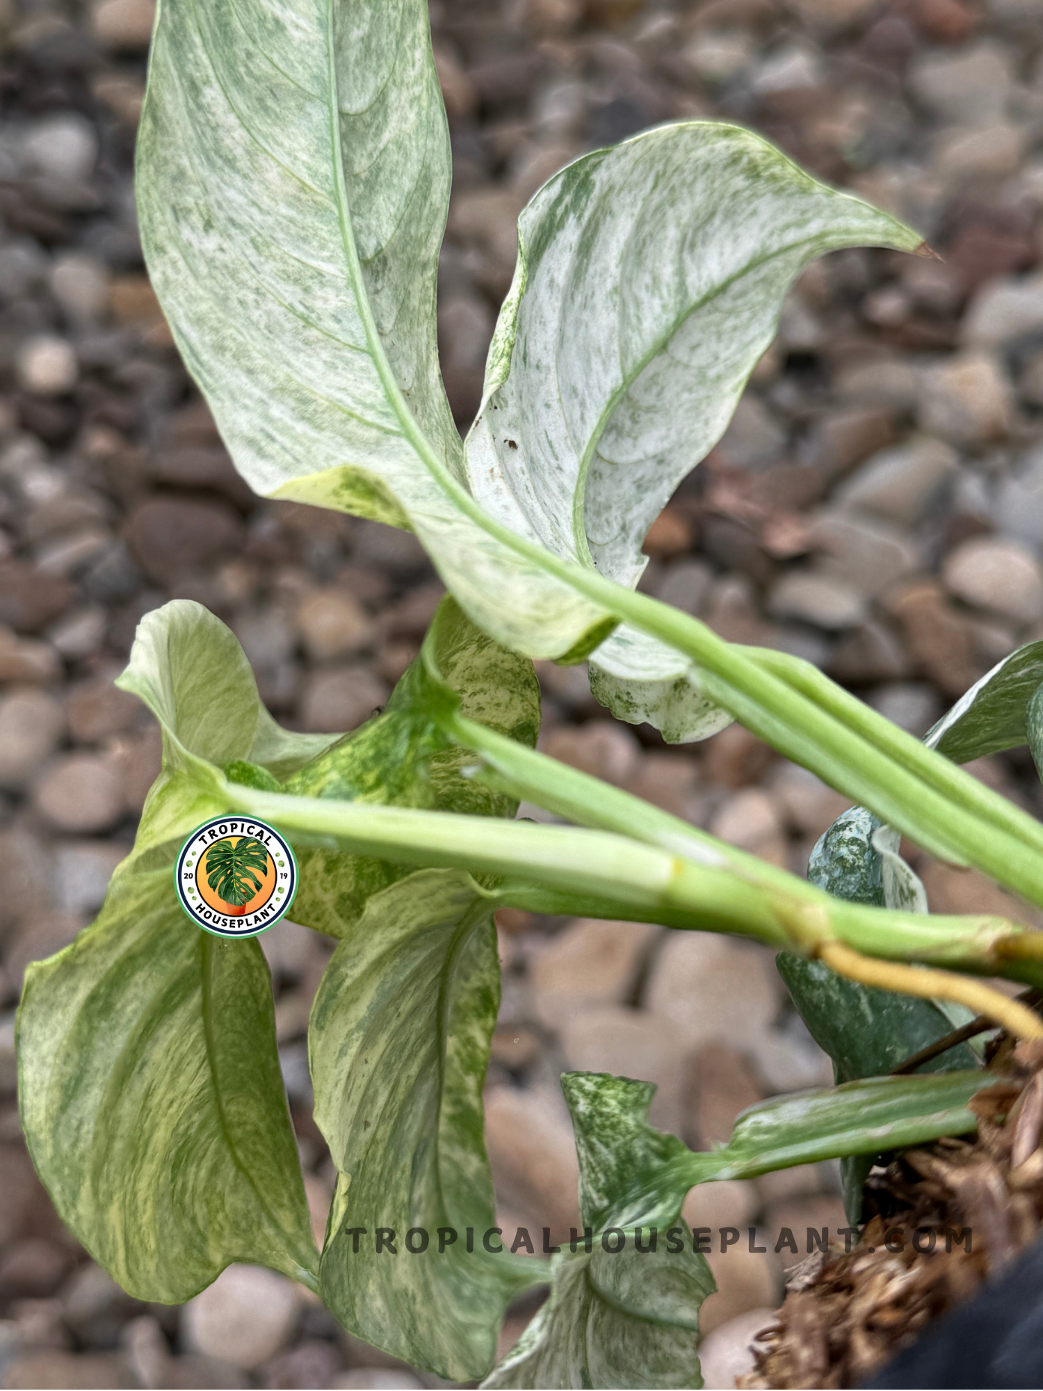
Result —
MULTIPOLYGON (((441 594, 410 536, 238 480, 135 227, 152 18, 152 0, 0 0, 0 1385, 437 1385, 270 1273, 232 1270, 185 1309, 135 1303, 63 1232, 21 1143, 25 965, 90 919, 159 765, 150 716, 111 684, 140 616, 200 601, 280 721, 343 730, 384 702, 441 594)), ((1043 637, 1039 0, 432 0, 431 18, 456 171, 439 339, 460 428, 540 184, 658 121, 747 124, 941 259, 843 252, 802 277, 731 427, 652 527, 642 587, 812 659, 915 733, 1043 637)), ((776 864, 802 874, 847 805, 737 726, 668 748, 608 718, 583 669, 540 675, 547 753, 776 864)), ((973 771, 1040 810, 1025 754, 973 771)), ((937 911, 1036 921, 973 872, 914 861, 937 911)), ((577 1221, 565 1067, 656 1082, 654 1120, 695 1146, 759 1097, 830 1081, 761 949, 501 917, 487 1107, 505 1227, 577 1221)), ((330 946, 289 922, 261 942, 321 1228, 332 1171, 305 1031, 330 946)), ((711 1185, 686 1216, 843 1225, 829 1166, 711 1185)), ((711 1257, 706 1328, 779 1302, 782 1257, 744 1245, 711 1257)))

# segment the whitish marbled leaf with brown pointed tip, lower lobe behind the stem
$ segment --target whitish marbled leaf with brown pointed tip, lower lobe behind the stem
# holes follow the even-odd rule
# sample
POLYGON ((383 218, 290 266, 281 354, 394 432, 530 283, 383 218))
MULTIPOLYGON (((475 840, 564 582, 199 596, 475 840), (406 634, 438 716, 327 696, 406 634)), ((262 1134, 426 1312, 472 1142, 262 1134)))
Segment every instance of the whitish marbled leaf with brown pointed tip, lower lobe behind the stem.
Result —
MULTIPOLYGON (((750 131, 697 121, 570 164, 519 235, 471 487, 512 530, 631 587, 648 527, 723 434, 794 277, 840 246, 919 242, 750 131)), ((630 627, 598 648, 592 689, 670 740, 729 719, 684 658, 630 627)))

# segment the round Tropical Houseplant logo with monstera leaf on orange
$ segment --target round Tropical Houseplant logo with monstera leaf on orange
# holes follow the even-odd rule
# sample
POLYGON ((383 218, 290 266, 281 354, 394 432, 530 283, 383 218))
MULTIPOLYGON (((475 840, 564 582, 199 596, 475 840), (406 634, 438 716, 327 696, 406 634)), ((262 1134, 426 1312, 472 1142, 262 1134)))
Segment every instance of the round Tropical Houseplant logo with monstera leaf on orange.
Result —
POLYGON ((298 862, 282 836, 256 817, 216 817, 181 847, 174 887, 185 912, 218 938, 254 938, 293 901, 298 862))

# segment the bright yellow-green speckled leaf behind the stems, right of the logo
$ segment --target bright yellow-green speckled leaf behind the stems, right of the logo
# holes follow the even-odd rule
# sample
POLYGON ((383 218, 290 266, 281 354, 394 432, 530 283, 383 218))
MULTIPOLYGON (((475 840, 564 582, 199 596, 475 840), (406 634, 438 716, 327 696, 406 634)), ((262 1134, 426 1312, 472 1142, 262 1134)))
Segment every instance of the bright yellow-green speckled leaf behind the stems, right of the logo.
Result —
MULTIPOLYGON (((530 747, 540 733, 540 683, 533 664, 485 637, 452 598, 442 601, 421 655, 384 712, 289 778, 284 791, 513 817, 516 798, 460 776, 474 755, 439 734, 435 716, 446 707, 530 747)), ((370 894, 409 874, 387 860, 324 849, 302 849, 299 862, 293 917, 332 936, 346 931, 370 894)))

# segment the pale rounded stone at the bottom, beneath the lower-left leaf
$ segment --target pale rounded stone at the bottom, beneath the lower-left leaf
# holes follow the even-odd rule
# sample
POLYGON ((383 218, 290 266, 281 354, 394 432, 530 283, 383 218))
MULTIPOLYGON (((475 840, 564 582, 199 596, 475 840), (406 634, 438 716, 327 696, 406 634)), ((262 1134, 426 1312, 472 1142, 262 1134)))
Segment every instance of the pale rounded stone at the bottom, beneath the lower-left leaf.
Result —
POLYGON ((261 1266, 228 1266, 182 1310, 185 1342, 249 1372, 274 1358, 300 1312, 298 1287, 261 1266))

